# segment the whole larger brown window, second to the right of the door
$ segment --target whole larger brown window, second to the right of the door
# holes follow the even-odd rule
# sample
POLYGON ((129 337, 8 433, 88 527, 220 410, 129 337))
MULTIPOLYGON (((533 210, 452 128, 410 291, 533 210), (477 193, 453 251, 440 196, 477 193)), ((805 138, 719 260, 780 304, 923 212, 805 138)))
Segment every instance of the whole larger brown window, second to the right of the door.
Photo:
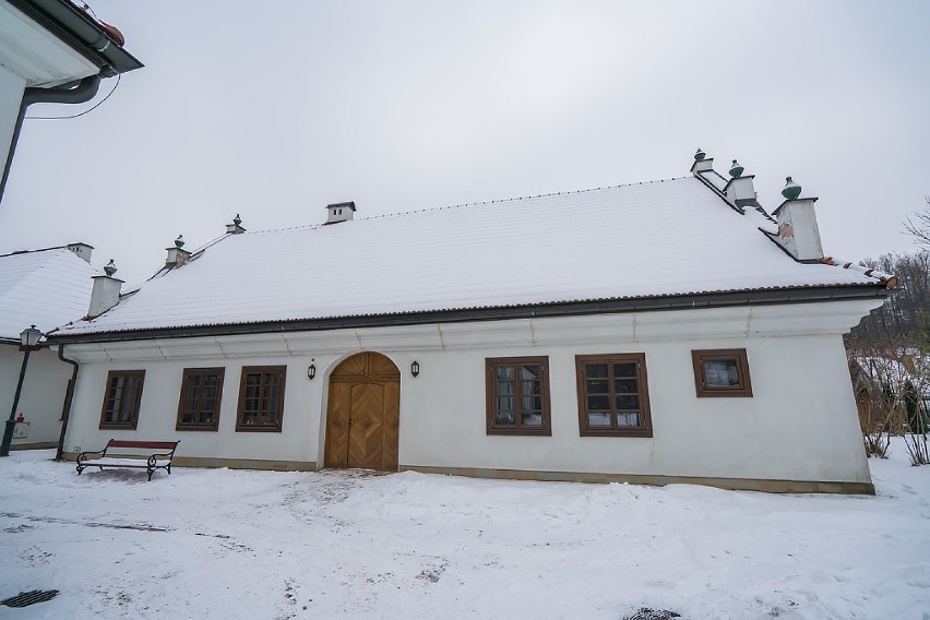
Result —
POLYGON ((652 437, 646 356, 575 356, 582 437, 652 437))

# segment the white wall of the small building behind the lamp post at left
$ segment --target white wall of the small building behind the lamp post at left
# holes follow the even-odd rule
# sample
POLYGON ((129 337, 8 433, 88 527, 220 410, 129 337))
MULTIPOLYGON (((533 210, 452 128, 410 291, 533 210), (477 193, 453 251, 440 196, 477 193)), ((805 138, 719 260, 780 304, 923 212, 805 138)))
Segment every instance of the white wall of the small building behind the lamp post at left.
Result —
MULTIPOLYGON (((16 382, 23 366, 23 353, 16 345, 0 345, 0 417, 10 418, 16 382)), ((43 348, 29 354, 26 377, 16 413, 23 412, 29 424, 28 437, 13 439, 13 446, 58 443, 64 392, 71 379, 71 366, 58 360, 55 350, 43 348)), ((2 425, 0 425, 2 432, 2 425)))

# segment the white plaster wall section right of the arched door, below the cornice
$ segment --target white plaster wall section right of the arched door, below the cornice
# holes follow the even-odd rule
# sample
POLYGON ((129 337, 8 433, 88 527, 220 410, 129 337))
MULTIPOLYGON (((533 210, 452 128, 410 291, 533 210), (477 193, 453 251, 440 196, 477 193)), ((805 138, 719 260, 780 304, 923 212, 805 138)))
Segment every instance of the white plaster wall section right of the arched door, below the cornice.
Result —
POLYGON ((421 356, 401 401, 405 465, 869 481, 839 336, 526 347, 421 356), (746 348, 750 398, 699 398, 691 349, 746 348), (653 438, 580 437, 576 354, 644 353, 653 438), (488 437, 485 357, 547 355, 552 437, 488 437))

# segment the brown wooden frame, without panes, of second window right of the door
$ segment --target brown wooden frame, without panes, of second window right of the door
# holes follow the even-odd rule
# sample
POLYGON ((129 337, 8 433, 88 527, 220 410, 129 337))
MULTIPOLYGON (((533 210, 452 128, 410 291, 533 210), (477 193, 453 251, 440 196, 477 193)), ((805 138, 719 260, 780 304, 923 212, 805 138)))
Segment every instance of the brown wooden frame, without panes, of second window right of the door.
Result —
POLYGON ((575 374, 577 378, 577 396, 579 396, 579 433, 581 437, 653 437, 653 418, 649 409, 649 386, 648 378, 646 377, 646 355, 642 353, 618 353, 606 355, 576 355, 575 356, 575 374), (617 388, 613 375, 615 363, 635 363, 635 375, 632 378, 622 377, 623 379, 634 379, 636 381, 637 391, 632 393, 639 397, 639 408, 641 426, 623 427, 617 424, 617 388), (609 427, 594 427, 588 422, 588 379, 585 373, 585 366, 588 363, 606 363, 608 371, 604 380, 607 382, 608 406, 610 412, 609 427))

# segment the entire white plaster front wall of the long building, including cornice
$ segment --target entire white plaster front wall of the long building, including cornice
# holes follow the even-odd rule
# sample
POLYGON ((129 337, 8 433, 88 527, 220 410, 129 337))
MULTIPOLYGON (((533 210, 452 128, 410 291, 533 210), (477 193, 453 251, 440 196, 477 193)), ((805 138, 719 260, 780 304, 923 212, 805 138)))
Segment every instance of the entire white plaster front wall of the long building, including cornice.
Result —
POLYGON ((180 456, 321 463, 327 377, 374 350, 401 370, 402 465, 868 482, 840 333, 877 303, 69 345, 82 366, 65 450, 177 438, 180 456), (698 348, 746 348, 753 397, 698 398, 698 348), (579 436, 575 355, 610 353, 645 354, 653 438, 579 436), (486 433, 485 359, 515 356, 549 358, 551 437, 486 433), (282 363, 283 431, 237 433, 241 367, 282 363), (213 366, 226 368, 219 430, 176 431, 183 368, 213 366), (146 370, 135 431, 98 429, 111 369, 146 370))

